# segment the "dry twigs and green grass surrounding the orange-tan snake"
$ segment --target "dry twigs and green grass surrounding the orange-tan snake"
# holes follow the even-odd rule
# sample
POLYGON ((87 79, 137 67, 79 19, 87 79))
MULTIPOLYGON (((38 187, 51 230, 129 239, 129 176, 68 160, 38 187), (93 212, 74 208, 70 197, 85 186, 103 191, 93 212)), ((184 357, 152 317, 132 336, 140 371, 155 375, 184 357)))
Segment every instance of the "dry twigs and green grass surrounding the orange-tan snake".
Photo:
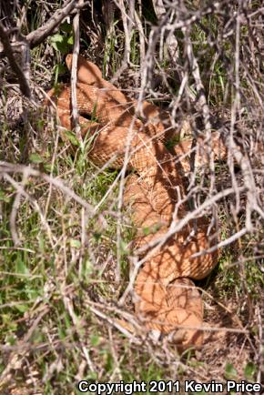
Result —
POLYGON ((81 379, 261 381, 262 2, 61 3, 0 2, 1 394, 75 394, 81 379), (188 176, 196 207, 208 201, 218 218, 223 247, 198 283, 208 325, 202 349, 179 355, 168 339, 117 324, 135 320, 131 296, 118 303, 134 234, 118 204, 120 172, 93 165, 88 140, 63 141, 42 104, 70 78, 74 18, 80 53, 107 79, 167 108, 176 128, 188 116, 194 137, 209 141, 217 129, 228 147, 226 163, 188 176))

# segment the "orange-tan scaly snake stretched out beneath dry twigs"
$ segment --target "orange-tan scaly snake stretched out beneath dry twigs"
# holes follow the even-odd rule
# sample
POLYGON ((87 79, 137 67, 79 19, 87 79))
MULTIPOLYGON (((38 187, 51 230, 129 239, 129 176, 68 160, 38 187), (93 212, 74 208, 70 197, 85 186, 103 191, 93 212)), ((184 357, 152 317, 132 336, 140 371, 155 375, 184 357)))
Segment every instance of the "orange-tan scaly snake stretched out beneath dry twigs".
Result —
MULTIPOLYGON (((66 57, 71 69, 72 56, 66 57)), ((94 136, 89 151, 91 160, 99 166, 108 161, 111 167, 124 164, 127 144, 129 157, 127 168, 134 173, 127 177, 124 194, 126 206, 130 205, 137 227, 134 248, 160 238, 168 231, 172 217, 184 218, 187 208, 178 205, 185 197, 184 171, 189 170, 188 152, 192 141, 187 140, 171 152, 163 142, 175 137, 168 128, 169 116, 157 106, 144 102, 136 116, 137 101, 131 100, 102 78, 98 67, 79 56, 77 68, 77 107, 82 135, 94 136), (94 119, 86 119, 92 116, 94 119), (180 158, 182 154, 185 157, 180 158), (179 158, 176 162, 176 158, 179 158)), ((71 129, 70 87, 64 85, 58 95, 51 90, 48 96, 56 102, 61 125, 71 129)), ((213 139, 213 151, 217 157, 226 155, 225 148, 213 139)), ((196 155, 196 164, 206 162, 203 153, 196 155)), ((198 289, 191 279, 203 279, 218 262, 218 252, 198 258, 191 256, 217 242, 207 236, 208 221, 199 218, 197 231, 190 235, 192 224, 168 240, 147 258, 139 268, 135 282, 135 309, 137 318, 147 330, 170 334, 181 347, 202 344, 203 305, 198 289)), ((141 257, 142 258, 142 257, 141 257)))

